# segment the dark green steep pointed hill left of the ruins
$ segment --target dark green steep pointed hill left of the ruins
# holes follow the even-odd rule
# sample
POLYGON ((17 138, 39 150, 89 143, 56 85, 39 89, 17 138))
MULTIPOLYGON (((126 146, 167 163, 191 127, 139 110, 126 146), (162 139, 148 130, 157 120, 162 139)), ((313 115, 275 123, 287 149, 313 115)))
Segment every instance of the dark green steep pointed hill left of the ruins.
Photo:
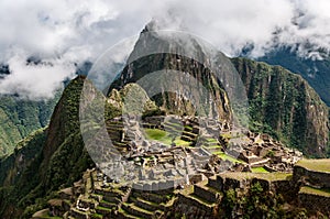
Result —
POLYGON ((28 217, 45 205, 43 198, 70 185, 94 165, 84 149, 78 119, 82 81, 78 77, 67 86, 47 129, 29 136, 0 162, 2 218, 28 217))

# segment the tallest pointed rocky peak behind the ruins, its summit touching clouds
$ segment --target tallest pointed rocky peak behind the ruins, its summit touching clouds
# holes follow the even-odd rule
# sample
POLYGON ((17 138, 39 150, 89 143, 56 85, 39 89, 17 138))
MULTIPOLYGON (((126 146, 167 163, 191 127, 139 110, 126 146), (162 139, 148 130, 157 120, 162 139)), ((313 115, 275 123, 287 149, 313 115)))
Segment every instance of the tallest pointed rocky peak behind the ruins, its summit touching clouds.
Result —
POLYGON ((213 73, 206 67, 209 57, 201 45, 189 37, 185 39, 189 46, 182 45, 179 41, 158 36, 150 32, 151 30, 152 24, 142 32, 128 65, 110 86, 110 90, 120 89, 129 83, 138 83, 148 95, 153 91, 160 92, 151 98, 168 113, 210 116, 231 122, 228 95, 213 73), (163 53, 141 55, 154 51, 163 53), (184 56, 186 53, 197 58, 184 56))

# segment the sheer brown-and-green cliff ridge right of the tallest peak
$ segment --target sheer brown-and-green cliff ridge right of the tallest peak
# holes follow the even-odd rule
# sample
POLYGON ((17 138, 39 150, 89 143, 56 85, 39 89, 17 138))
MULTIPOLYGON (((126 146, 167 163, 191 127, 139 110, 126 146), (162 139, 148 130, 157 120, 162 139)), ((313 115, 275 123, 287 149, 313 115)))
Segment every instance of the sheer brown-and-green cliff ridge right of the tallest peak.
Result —
POLYGON ((307 155, 324 156, 329 109, 307 81, 279 66, 245 58, 232 63, 246 87, 252 128, 277 135, 307 155))

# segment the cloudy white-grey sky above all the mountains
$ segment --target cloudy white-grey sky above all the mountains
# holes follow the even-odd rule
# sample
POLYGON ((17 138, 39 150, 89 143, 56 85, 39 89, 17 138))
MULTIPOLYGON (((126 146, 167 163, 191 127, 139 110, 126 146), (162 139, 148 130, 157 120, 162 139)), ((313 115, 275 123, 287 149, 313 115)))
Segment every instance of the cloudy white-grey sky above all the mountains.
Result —
POLYGON ((254 57, 278 45, 299 45, 301 56, 317 57, 304 45, 330 50, 329 11, 329 0, 1 0, 0 62, 11 75, 0 80, 0 94, 50 98, 74 77, 75 63, 95 61, 152 19, 229 56, 253 44, 254 57), (31 56, 44 64, 26 65, 31 56))

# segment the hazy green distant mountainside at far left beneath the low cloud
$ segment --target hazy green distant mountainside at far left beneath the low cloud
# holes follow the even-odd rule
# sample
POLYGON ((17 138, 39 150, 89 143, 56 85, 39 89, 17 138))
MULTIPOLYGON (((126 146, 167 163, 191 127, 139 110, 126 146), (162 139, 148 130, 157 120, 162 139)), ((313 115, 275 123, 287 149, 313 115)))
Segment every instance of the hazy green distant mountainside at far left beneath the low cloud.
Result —
MULTIPOLYGON (((33 58, 26 61, 26 63, 33 63, 36 66, 42 65, 41 62, 33 58)), ((91 63, 89 62, 77 66, 76 75, 86 76, 90 66, 91 63)), ((0 78, 9 77, 11 74, 8 66, 1 65, 0 78)), ((69 81, 69 78, 62 80, 59 88, 56 91, 51 91, 46 99, 44 97, 35 99, 37 94, 22 94, 19 90, 12 95, 0 95, 0 156, 10 155, 20 141, 32 132, 48 125, 63 89, 69 81)))

